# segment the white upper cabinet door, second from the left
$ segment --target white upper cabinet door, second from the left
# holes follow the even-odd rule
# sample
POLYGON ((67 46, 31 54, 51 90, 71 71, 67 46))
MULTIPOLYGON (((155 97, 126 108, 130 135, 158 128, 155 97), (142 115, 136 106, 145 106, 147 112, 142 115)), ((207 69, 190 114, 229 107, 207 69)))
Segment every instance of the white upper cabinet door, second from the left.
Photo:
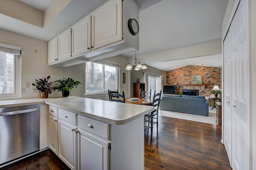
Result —
POLYGON ((58 60, 71 57, 71 29, 58 35, 58 60))

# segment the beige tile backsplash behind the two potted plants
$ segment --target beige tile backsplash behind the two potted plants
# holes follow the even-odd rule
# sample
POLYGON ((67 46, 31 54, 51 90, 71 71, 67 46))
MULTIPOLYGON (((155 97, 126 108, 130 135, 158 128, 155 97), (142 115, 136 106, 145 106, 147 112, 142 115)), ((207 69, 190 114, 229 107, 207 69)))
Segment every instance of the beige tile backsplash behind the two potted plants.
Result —
MULTIPOLYGON (((40 94, 37 90, 34 90, 34 86, 31 88, 31 84, 35 83, 38 78, 46 78, 48 75, 36 75, 36 74, 21 74, 21 98, 40 98, 40 94)), ((51 75, 50 75, 51 76, 51 75)), ((51 76, 48 81, 54 82, 56 80, 62 79, 64 76, 51 76)), ((48 98, 62 97, 62 92, 57 90, 52 94, 49 94, 48 98)))

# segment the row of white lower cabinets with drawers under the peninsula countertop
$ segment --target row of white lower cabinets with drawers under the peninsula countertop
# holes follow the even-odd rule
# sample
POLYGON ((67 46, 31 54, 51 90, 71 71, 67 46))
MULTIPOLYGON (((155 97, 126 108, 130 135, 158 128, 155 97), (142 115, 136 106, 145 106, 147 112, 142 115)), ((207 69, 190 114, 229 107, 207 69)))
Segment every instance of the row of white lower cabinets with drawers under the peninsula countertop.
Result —
POLYGON ((49 106, 49 148, 72 170, 109 170, 109 125, 49 106), (57 113, 54 117, 53 113, 57 113))

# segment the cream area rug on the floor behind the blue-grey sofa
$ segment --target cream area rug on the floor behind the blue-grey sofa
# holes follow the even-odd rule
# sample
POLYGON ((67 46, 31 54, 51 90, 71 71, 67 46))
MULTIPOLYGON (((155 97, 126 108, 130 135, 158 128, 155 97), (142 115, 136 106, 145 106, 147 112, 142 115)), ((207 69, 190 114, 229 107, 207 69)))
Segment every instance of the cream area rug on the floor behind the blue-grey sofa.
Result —
POLYGON ((209 107, 209 115, 208 116, 202 116, 202 115, 194 115, 194 114, 188 114, 188 113, 180 113, 175 111, 166 111, 166 110, 159 110, 159 115, 161 116, 167 116, 167 117, 173 117, 177 119, 185 119, 190 121, 197 121, 202 123, 209 123, 216 125, 216 109, 212 109, 212 107, 209 107))

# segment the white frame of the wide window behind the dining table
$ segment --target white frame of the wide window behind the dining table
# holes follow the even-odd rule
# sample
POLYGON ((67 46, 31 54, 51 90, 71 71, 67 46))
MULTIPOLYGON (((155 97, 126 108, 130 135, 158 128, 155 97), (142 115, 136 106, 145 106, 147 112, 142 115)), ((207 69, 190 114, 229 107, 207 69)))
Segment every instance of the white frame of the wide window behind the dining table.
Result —
MULTIPOLYGON (((96 64, 102 64, 102 91, 100 92, 86 92, 86 85, 85 85, 85 94, 84 96, 89 96, 89 95, 100 95, 100 94, 108 94, 108 91, 104 91, 104 81, 105 81, 105 76, 104 76, 104 73, 105 73, 105 66, 112 66, 112 67, 116 67, 116 87, 119 88, 120 86, 120 67, 118 63, 114 63, 114 62, 110 62, 110 61, 105 61, 105 60, 98 60, 98 61, 88 61, 88 62, 91 62, 91 63, 96 63, 96 64)), ((86 64, 85 64, 85 67, 86 67, 86 64)), ((86 77, 86 72, 85 72, 85 77, 86 77)), ((85 78, 85 81, 86 81, 86 78, 85 78)), ((86 82, 85 82, 86 84, 86 82)))

